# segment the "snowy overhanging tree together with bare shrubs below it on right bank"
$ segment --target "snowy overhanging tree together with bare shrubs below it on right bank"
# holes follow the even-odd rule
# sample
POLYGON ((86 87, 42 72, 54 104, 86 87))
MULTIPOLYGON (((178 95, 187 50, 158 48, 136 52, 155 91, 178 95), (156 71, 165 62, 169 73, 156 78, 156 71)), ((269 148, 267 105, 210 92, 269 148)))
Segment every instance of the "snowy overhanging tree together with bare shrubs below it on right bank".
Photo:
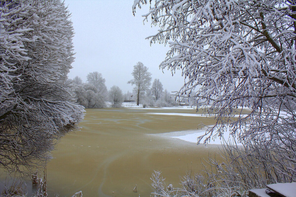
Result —
MULTIPOLYGON (((133 12, 146 3, 135 0, 133 12)), ((181 69, 186 83, 178 95, 195 97, 197 108, 210 105, 206 112, 216 114, 217 124, 206 131, 205 142, 223 137, 230 127, 244 144, 244 149, 225 147, 229 163, 210 160, 214 170, 207 172, 209 184, 200 185, 205 179, 199 176, 189 178, 184 183, 193 186, 185 184, 179 190, 184 191, 182 195, 217 195, 219 191, 232 196, 237 188, 296 181, 295 1, 159 0, 150 4, 144 21, 151 18, 160 30, 148 39, 170 45, 160 68, 181 69), (234 121, 232 112, 239 106, 250 108, 251 113, 234 121)))

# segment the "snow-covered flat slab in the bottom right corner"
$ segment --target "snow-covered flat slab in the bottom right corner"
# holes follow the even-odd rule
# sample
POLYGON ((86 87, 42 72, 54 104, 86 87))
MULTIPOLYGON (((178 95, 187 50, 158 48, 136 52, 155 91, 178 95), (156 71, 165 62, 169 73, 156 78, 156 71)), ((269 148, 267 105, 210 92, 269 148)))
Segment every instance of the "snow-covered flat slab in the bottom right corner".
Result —
POLYGON ((283 197, 295 197, 296 196, 296 182, 292 183, 275 183, 266 185, 267 188, 280 194, 283 197))

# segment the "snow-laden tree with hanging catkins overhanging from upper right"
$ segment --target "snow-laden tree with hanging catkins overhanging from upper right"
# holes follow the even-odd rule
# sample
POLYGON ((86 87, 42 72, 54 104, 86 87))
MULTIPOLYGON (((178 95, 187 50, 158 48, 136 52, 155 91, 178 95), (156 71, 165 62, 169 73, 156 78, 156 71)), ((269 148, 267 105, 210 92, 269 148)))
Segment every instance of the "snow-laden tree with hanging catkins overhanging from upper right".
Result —
MULTIPOLYGON (((151 6, 145 19, 151 16, 152 24, 160 25, 150 42, 170 44, 160 68, 182 69, 186 77, 180 95, 196 97, 197 105, 212 101, 219 119, 229 116, 231 108, 246 105, 253 110, 255 124, 265 120, 263 125, 269 125, 276 117, 292 126, 296 96, 293 2, 164 0, 151 6), (191 95, 194 88, 197 91, 191 95), (289 118, 274 112, 272 108, 279 106, 289 118)), ((141 3, 146 1, 136 0, 133 9, 141 3)), ((268 128, 252 125, 245 134, 268 128)))

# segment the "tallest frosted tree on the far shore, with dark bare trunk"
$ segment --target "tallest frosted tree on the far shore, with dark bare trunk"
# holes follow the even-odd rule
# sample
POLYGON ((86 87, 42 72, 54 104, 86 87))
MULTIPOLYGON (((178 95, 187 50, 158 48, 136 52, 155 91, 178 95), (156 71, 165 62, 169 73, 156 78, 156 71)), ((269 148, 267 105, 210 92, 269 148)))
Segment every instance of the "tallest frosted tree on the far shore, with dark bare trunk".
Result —
POLYGON ((139 105, 139 100, 141 94, 143 94, 151 84, 151 73, 148 72, 148 68, 144 66, 142 62, 138 62, 133 66, 133 79, 128 81, 128 84, 135 85, 133 91, 137 95, 137 105, 139 105))

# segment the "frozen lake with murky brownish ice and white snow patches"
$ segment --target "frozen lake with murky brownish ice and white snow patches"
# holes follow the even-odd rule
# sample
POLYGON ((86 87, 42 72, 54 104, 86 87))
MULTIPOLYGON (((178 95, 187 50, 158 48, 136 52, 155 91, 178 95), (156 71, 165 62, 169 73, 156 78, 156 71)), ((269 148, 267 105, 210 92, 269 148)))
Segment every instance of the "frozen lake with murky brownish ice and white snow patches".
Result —
POLYGON ((203 158, 219 151, 217 145, 175 138, 196 133, 200 123, 214 124, 213 117, 198 113, 192 108, 86 109, 81 131, 63 137, 52 152, 49 194, 148 197, 153 170, 162 171, 167 184, 180 187, 179 175, 187 169, 200 172, 203 158))

